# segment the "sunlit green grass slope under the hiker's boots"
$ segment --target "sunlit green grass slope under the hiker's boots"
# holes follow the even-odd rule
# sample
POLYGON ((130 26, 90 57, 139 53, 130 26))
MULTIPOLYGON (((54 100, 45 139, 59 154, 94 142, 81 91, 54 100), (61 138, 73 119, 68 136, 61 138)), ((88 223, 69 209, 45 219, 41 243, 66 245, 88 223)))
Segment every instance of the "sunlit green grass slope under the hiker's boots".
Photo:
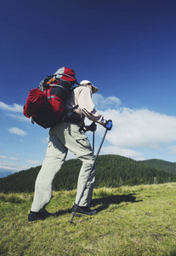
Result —
POLYGON ((54 192, 57 217, 28 224, 33 194, 0 194, 0 255, 176 255, 176 183, 94 189, 99 213, 70 224, 75 195, 54 192))

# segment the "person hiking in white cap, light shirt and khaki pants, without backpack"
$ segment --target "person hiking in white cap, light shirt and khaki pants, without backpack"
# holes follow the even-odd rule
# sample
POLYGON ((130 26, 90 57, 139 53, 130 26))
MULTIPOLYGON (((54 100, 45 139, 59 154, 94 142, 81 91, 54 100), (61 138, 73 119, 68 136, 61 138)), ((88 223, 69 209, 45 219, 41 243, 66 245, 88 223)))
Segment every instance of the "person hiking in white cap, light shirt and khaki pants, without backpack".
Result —
POLYGON ((93 123, 85 127, 83 121, 85 117, 87 117, 91 121, 103 125, 107 130, 111 130, 112 127, 112 121, 105 120, 104 117, 94 109, 92 93, 96 93, 97 91, 98 88, 90 81, 82 80, 82 82, 71 91, 65 103, 63 122, 50 128, 46 157, 35 183, 34 199, 28 216, 29 222, 37 219, 45 219, 51 215, 51 213, 46 211, 45 207, 52 197, 52 182, 54 176, 60 171, 68 150, 74 153, 77 159, 82 161, 82 167, 77 182, 77 196, 75 204, 72 207, 72 212, 74 212, 75 207, 77 207, 77 215, 93 215, 97 213, 95 210, 90 209, 94 189, 95 170, 91 173, 82 199, 77 206, 77 201, 80 198, 83 186, 88 178, 88 172, 90 172, 94 163, 94 153, 85 130, 95 131, 96 125, 93 123))

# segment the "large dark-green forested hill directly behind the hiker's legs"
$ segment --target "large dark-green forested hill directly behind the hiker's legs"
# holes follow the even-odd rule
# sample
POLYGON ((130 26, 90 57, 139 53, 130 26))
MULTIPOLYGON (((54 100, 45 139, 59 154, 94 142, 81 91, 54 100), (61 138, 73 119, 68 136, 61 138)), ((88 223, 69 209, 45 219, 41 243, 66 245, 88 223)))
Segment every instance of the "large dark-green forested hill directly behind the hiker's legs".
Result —
MULTIPOLYGON (((77 177, 81 168, 80 160, 67 160, 54 177, 54 190, 77 189, 77 177)), ((0 178, 0 192, 33 192, 41 166, 0 178)), ((99 155, 96 162, 95 188, 116 188, 122 185, 138 185, 176 181, 176 173, 164 172, 140 161, 120 155, 99 155)))

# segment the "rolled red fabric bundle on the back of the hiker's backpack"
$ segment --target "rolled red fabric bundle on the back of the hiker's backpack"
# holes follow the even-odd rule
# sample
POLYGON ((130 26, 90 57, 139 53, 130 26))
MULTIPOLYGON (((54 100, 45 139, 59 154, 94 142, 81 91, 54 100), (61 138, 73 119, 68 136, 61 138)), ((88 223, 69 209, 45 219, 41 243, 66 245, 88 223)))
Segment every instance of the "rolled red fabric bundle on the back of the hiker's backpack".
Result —
POLYGON ((36 109, 40 108, 45 102, 46 96, 42 90, 38 88, 30 90, 23 113, 27 118, 30 118, 36 109))

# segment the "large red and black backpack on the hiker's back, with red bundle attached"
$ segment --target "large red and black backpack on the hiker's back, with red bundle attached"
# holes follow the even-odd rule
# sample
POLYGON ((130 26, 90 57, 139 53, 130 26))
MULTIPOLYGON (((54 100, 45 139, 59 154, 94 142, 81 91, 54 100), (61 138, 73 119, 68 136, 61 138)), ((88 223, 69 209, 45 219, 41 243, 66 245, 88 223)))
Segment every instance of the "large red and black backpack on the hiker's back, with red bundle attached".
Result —
POLYGON ((49 128, 58 124, 64 113, 65 101, 74 84, 77 83, 74 70, 59 68, 38 86, 30 90, 23 113, 32 123, 49 128))

